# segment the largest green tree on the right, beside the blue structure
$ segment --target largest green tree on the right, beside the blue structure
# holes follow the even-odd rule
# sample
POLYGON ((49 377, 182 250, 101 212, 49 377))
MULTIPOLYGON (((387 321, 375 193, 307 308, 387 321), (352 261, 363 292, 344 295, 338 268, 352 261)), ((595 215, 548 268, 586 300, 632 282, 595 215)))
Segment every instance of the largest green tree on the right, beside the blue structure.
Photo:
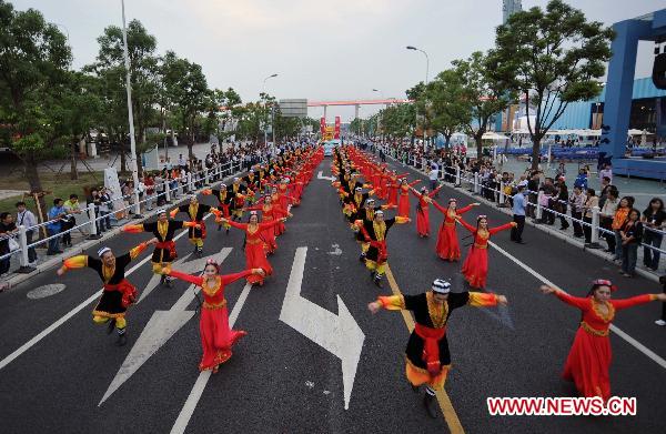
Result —
POLYGON ((613 38, 613 29, 587 21, 581 10, 561 0, 551 0, 545 11, 535 7, 514 13, 497 28, 494 71, 536 110, 534 123, 527 117, 533 169, 542 139, 567 105, 602 91, 597 80, 610 59, 613 38))

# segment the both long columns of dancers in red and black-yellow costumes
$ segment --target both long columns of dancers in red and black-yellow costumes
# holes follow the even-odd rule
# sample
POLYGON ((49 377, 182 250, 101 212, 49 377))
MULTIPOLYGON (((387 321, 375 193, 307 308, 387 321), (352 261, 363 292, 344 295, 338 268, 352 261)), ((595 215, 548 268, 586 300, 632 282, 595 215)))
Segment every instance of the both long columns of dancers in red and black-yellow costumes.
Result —
MULTIPOLYGON (((234 178, 230 184, 222 183, 216 189, 205 190, 204 196, 215 198, 218 203, 214 205, 199 203, 199 199, 192 195, 188 204, 175 208, 170 213, 165 209, 159 210, 155 222, 124 226, 123 231, 127 233, 149 232, 153 235, 130 252, 115 256, 111 249, 102 248, 98 252, 99 259, 78 255, 65 260, 58 274, 84 266, 98 273, 104 290, 92 312, 93 321, 108 324, 109 333, 115 329, 118 344, 124 345, 127 311, 138 295, 138 290, 125 277, 125 268, 142 251, 153 245, 152 270, 162 276, 163 284, 171 285, 172 279, 180 279, 201 287, 203 303, 200 335, 203 355, 199 369, 216 372, 220 364, 231 357, 234 343, 246 335, 244 331, 230 329, 224 289, 240 279, 245 279, 252 286, 261 286, 273 274, 269 256, 276 252, 276 240, 286 231, 285 222, 292 216, 291 210, 300 205, 303 190, 322 160, 321 147, 293 148, 268 166, 253 166, 245 176, 234 178), (250 215, 244 221, 246 212, 250 215), (185 214, 189 220, 173 220, 179 213, 185 214), (220 264, 213 260, 206 262, 202 275, 182 273, 172 268, 178 258, 174 235, 183 228, 189 230, 194 253, 202 255, 208 213, 215 215, 219 231, 224 229, 229 233, 233 228, 243 232, 245 270, 221 274, 220 264)), ((342 145, 335 150, 331 170, 335 175, 333 186, 340 198, 342 213, 359 243, 359 260, 370 271, 372 282, 379 287, 383 287, 389 270, 389 232, 394 224, 412 222, 413 199, 418 236, 431 235, 431 205, 444 216, 436 231, 437 241, 433 252, 442 261, 452 263, 462 258, 456 232, 458 224, 473 238, 461 273, 470 289, 476 291, 452 292, 450 282, 436 279, 425 293, 380 295, 367 306, 372 313, 382 309, 410 310, 414 313, 416 324, 406 347, 405 373, 415 392, 421 385, 425 386, 425 410, 430 416, 437 417, 436 393, 444 387, 451 369, 446 337, 448 319, 454 310, 465 305, 487 307, 507 304, 506 296, 485 291, 488 274, 487 249, 493 235, 515 228, 516 223, 491 228, 488 218, 478 215, 475 224, 472 224, 463 216, 478 203, 458 206, 457 201, 451 199, 444 206, 437 202, 441 184, 416 189, 420 180, 410 181, 406 173, 397 174, 381 160, 376 161, 371 154, 352 145, 342 145), (394 215, 389 216, 389 213, 394 215)), ((595 280, 587 297, 575 297, 549 286, 542 286, 541 290, 546 294, 555 294, 583 312, 563 376, 573 381, 583 396, 601 396, 607 401, 610 397, 608 329, 616 311, 650 301, 666 302, 666 294, 612 300, 615 286, 606 280, 595 280)))

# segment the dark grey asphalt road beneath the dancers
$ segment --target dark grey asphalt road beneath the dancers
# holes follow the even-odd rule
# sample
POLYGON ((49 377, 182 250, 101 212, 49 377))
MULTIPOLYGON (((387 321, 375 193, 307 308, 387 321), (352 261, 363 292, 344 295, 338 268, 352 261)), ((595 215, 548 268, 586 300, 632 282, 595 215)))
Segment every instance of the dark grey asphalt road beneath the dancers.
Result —
MULTIPOLYGON (((330 175, 329 165, 330 160, 325 160, 320 166, 324 175, 330 175)), ((447 188, 442 195, 442 203, 448 196, 462 203, 470 201, 447 188)), ((213 203, 212 198, 202 201, 213 203)), ((61 280, 44 273, 0 294, 2 432, 164 433, 174 424, 186 426, 188 433, 447 432, 448 424, 443 417, 426 417, 421 396, 411 392, 404 379, 403 351, 408 331, 402 315, 367 313, 367 302, 379 292, 391 293, 391 289, 379 291, 359 263, 356 243, 344 224, 330 182, 313 180, 301 206, 293 213, 287 232, 278 240, 278 253, 270 259, 275 275, 263 287, 248 291, 244 282, 228 287, 230 312, 234 306, 238 312, 235 326, 246 330, 249 336, 238 344, 230 362, 208 383, 196 369, 201 349, 195 314, 99 405, 119 370, 121 374, 128 372, 121 370, 123 363, 137 365, 139 349, 134 345, 142 332, 142 340, 149 334, 144 329, 150 321, 154 324, 157 320, 151 317, 155 312, 169 311, 179 300, 181 305, 184 300, 188 310, 196 307, 196 302, 189 302, 188 295, 183 295, 191 291, 183 282, 173 289, 155 289, 131 310, 129 343, 124 347, 113 345, 115 337, 107 336, 104 327, 92 324, 91 301, 9 363, 10 354, 80 306, 101 285, 91 271, 79 270, 61 280), (306 253, 300 248, 307 248, 306 253), (300 258, 305 253, 302 284, 290 286, 292 292, 286 296, 290 274, 297 283, 297 266, 292 273, 297 252, 300 258), (56 295, 39 300, 27 297, 30 290, 59 282, 67 289, 56 295), (306 301, 294 295, 294 290, 300 290, 300 296, 306 301), (292 324, 310 327, 310 336, 320 343, 333 341, 331 345, 335 346, 337 342, 337 354, 353 353, 354 342, 359 342, 360 335, 350 327, 351 323, 355 321, 364 335, 347 410, 341 360, 329 351, 330 346, 329 350, 320 346, 289 325, 290 321, 280 320, 285 300, 289 306, 294 297, 301 303, 296 312, 302 312, 302 316, 292 317, 292 324), (339 297, 354 321, 346 316, 339 297), (340 345, 341 339, 344 345, 340 345), (199 386, 195 387, 195 383, 199 386), (194 404, 191 418, 183 418, 188 397, 195 396, 198 391, 201 391, 200 398, 190 402, 194 404)), ((487 206, 481 206, 478 213, 488 214, 492 225, 506 219, 487 206)), ((470 213, 467 219, 472 221, 475 215, 470 213)), ((440 222, 441 216, 433 213, 433 229, 440 222)), ((213 228, 209 234, 208 255, 230 248, 230 252, 229 252, 223 270, 235 272, 244 268, 241 233, 232 231, 225 235, 213 228)), ((110 245, 121 252, 147 238, 123 234, 110 245)), ((617 335, 612 336, 613 390, 619 396, 637 397, 637 416, 488 416, 487 396, 575 395, 573 386, 562 382, 558 375, 579 313, 541 295, 536 291, 539 279, 526 269, 537 271, 575 294, 583 294, 589 280, 596 276, 616 280, 620 286, 617 296, 659 290, 646 280, 618 277, 609 263, 531 228, 526 229, 525 239, 528 244, 516 245, 508 241, 507 233, 500 234, 494 241, 506 254, 500 249, 490 251, 488 290, 506 294, 509 307, 503 311, 464 309, 456 312, 450 323, 454 367, 446 391, 463 428, 468 433, 663 432, 665 367, 617 335)), ((465 290, 460 264, 444 263, 435 256, 435 239, 418 239, 412 224, 395 226, 389 240, 391 270, 402 292, 423 292, 438 276, 450 279, 456 290, 465 290)), ((184 258, 190 244, 184 236, 176 244, 184 258)), ((135 263, 144 258, 147 254, 135 263)), ((188 268, 190 262, 186 260, 181 268, 188 268)), ((130 275, 140 289, 149 285, 151 277, 148 262, 130 275)), ((660 306, 649 304, 622 312, 615 324, 664 357, 664 330, 653 325, 658 309, 660 306)), ((174 314, 176 316, 183 317, 183 314, 174 314)), ((154 327, 150 333, 159 334, 154 327)), ((345 374, 349 393, 349 369, 345 374)))

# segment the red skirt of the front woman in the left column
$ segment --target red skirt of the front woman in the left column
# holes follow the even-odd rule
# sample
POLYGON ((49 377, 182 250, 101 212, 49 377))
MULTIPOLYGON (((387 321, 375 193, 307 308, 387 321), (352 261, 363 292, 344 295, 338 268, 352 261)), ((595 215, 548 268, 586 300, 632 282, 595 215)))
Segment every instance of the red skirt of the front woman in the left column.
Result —
POLYGON ((201 310, 199 322, 199 334, 201 335, 201 347, 203 355, 199 370, 212 370, 231 357, 233 344, 248 333, 242 330, 229 329, 229 313, 226 306, 222 309, 201 310))

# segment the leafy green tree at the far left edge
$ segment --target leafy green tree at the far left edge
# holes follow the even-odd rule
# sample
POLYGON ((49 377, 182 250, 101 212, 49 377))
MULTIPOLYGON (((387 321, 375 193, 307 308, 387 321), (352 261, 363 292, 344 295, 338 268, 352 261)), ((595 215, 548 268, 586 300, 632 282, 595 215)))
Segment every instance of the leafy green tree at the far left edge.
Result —
MULTIPOLYGON (((0 124, 32 192, 42 191, 39 161, 58 145, 51 120, 60 97, 53 90, 67 82, 71 60, 64 34, 41 12, 17 11, 0 0, 0 124)), ((43 210, 43 199, 40 202, 43 210)))

